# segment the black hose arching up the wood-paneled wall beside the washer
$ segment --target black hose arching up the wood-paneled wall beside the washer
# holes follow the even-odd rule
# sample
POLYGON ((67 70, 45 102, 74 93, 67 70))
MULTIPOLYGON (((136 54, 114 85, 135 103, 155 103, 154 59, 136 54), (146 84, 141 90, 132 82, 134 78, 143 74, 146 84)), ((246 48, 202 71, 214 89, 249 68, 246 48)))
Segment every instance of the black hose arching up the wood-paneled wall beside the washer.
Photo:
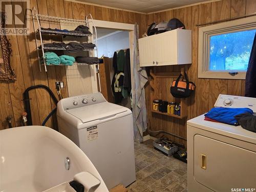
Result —
POLYGON ((28 120, 28 125, 33 125, 32 124, 32 117, 31 117, 31 109, 30 109, 30 99, 29 99, 29 91, 32 89, 37 89, 37 88, 41 88, 41 89, 45 89, 51 96, 51 98, 53 99, 54 103, 57 105, 58 100, 55 97, 55 95, 53 94, 53 92, 50 90, 49 87, 43 85, 43 84, 38 84, 37 86, 31 86, 28 89, 25 90, 23 97, 24 97, 24 104, 25 104, 25 111, 28 113, 27 116, 27 120, 28 120))

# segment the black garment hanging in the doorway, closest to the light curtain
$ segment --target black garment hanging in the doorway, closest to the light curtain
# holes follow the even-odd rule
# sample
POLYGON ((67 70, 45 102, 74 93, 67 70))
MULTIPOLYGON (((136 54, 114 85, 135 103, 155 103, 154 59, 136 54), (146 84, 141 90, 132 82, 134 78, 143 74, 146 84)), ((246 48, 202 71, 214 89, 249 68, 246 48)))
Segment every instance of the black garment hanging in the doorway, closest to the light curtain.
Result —
POLYGON ((125 54, 123 89, 126 89, 128 93, 132 90, 130 49, 126 49, 125 54))

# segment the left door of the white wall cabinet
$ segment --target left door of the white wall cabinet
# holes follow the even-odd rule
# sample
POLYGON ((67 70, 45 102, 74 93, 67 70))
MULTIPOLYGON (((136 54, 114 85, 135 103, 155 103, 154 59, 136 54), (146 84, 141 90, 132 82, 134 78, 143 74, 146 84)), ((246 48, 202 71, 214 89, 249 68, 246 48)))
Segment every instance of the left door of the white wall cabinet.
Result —
POLYGON ((153 66, 154 61, 154 38, 153 36, 139 39, 140 67, 153 66))

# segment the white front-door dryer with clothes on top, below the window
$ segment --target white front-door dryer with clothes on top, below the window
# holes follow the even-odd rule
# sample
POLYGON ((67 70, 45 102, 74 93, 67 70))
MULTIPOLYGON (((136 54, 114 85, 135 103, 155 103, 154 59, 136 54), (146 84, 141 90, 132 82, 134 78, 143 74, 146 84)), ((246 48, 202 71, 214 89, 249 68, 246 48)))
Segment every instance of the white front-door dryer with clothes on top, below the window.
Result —
MULTIPOLYGON (((256 98, 219 95, 216 107, 250 108, 256 98)), ((256 133, 241 126, 187 121, 188 191, 256 191, 256 133)))

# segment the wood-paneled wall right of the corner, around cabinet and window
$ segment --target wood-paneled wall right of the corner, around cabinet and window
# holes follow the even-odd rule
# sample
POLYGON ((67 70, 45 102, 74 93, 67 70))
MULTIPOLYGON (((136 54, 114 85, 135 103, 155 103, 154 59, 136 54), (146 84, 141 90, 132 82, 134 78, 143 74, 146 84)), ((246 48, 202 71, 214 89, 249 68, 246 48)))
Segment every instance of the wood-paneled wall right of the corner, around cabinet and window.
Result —
MULTIPOLYGON (((161 20, 168 21, 170 18, 176 17, 181 20, 186 29, 192 30, 192 64, 186 65, 186 71, 189 79, 195 82, 197 86, 195 94, 188 99, 188 117, 184 120, 166 117, 161 114, 152 114, 150 112, 152 103, 150 100, 147 100, 148 122, 152 130, 164 130, 186 137, 186 120, 206 113, 214 106, 219 94, 244 95, 245 80, 202 79, 197 77, 198 27, 196 27, 196 25, 253 12, 256 12, 254 0, 222 0, 147 15, 148 25, 153 22, 160 22, 161 20)), ((178 66, 164 66, 156 67, 156 70, 158 72, 169 72, 180 71, 180 68, 181 67, 178 66)), ((159 82, 159 98, 170 98, 169 87, 171 82, 172 79, 170 78, 161 78, 161 82, 159 82)), ((146 95, 150 93, 151 88, 147 86, 146 95)), ((175 140, 186 143, 182 139, 175 138, 175 140)))

